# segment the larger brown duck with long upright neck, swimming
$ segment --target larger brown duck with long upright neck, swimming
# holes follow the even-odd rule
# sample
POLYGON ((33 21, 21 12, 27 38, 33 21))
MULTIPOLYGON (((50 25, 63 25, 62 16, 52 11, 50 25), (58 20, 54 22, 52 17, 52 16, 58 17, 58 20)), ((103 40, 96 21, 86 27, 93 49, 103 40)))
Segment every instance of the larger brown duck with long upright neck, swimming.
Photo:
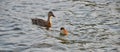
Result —
POLYGON ((55 17, 55 15, 53 14, 52 11, 49 11, 47 20, 38 19, 38 18, 34 18, 34 19, 31 19, 31 20, 32 20, 32 24, 42 26, 42 27, 46 27, 46 29, 49 30, 49 28, 51 28, 51 26, 52 26, 52 21, 51 21, 52 17, 55 17))

